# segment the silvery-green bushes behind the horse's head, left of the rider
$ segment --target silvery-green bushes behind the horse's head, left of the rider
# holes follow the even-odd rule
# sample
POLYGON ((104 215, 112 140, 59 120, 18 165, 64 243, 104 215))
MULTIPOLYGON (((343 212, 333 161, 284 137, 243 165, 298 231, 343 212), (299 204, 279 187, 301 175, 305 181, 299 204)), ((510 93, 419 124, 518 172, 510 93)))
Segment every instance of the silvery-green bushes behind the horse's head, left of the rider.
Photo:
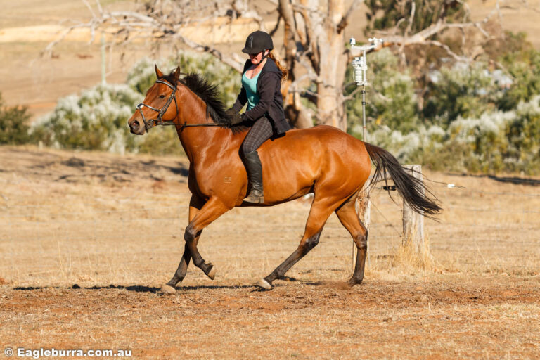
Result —
POLYGON ((219 84, 222 99, 232 105, 240 76, 234 70, 201 53, 181 52, 165 60, 140 60, 129 71, 127 84, 94 86, 80 95, 60 98, 55 110, 31 129, 32 138, 46 146, 113 153, 179 153, 181 146, 173 127, 155 127, 145 136, 129 133, 127 120, 155 82, 154 64, 164 72, 180 66, 183 72, 199 72, 219 84))

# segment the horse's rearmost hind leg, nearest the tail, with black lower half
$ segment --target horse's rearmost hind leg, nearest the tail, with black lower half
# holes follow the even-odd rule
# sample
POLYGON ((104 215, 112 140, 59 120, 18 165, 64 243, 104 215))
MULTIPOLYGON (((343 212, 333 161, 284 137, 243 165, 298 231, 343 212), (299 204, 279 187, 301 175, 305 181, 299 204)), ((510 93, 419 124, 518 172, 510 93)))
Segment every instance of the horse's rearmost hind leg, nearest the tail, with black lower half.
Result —
POLYGON ((356 195, 349 198, 338 210, 335 210, 335 214, 338 215, 341 224, 345 226, 345 229, 349 231, 352 236, 352 240, 356 244, 356 262, 354 264, 354 273, 352 278, 347 281, 351 286, 360 284, 364 280, 364 267, 366 265, 366 254, 368 252, 368 230, 366 226, 362 224, 354 204, 356 202, 356 195))

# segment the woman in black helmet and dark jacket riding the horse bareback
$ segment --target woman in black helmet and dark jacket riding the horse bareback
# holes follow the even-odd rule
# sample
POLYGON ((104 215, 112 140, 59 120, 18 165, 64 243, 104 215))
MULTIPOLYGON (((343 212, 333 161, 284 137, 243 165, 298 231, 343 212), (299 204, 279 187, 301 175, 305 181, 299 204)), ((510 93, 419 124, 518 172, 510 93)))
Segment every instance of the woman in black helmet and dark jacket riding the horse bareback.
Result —
POLYGON ((240 94, 229 109, 231 124, 251 123, 240 147, 251 184, 251 191, 244 199, 247 203, 264 203, 262 165, 257 148, 274 133, 281 135, 291 129, 285 120, 281 95, 281 80, 287 76, 287 70, 276 60, 272 49, 272 38, 266 32, 252 32, 245 40, 242 52, 249 54, 250 59, 244 65, 240 94), (247 110, 239 114, 246 102, 247 110))

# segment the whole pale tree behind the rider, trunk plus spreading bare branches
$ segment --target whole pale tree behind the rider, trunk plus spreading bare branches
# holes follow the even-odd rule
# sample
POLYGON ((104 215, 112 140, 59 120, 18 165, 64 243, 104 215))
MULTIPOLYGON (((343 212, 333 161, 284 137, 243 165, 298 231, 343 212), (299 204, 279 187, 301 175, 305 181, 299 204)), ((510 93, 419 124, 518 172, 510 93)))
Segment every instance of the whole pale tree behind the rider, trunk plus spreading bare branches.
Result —
MULTIPOLYGON (((97 32, 106 32, 113 42, 127 44, 136 39, 173 40, 183 44, 189 49, 210 53, 221 62, 240 72, 243 70, 243 60, 236 53, 229 56, 209 44, 207 39, 198 40, 190 32, 197 27, 226 27, 233 23, 242 23, 245 19, 252 20, 259 28, 265 28, 264 15, 257 4, 248 3, 248 0, 212 0, 212 1, 177 1, 177 0, 148 0, 141 4, 138 11, 107 11, 101 6, 99 0, 91 6, 89 0, 82 0, 91 13, 91 20, 87 23, 72 25, 60 33, 56 41, 52 41, 46 48, 49 53, 58 42, 63 41, 70 32, 81 27, 91 31, 91 41, 94 41, 97 32), (204 14, 204 16, 201 16, 204 14), (263 16, 262 16, 262 15, 263 16)), ((290 70, 290 77, 282 86, 285 96, 285 111, 288 115, 297 117, 297 124, 309 126, 313 124, 311 117, 321 122, 346 128, 345 101, 350 96, 343 96, 345 82, 345 69, 347 68, 347 55, 345 49, 345 28, 352 13, 364 3, 364 0, 266 0, 274 4, 277 10, 276 25, 271 29, 274 33, 278 28, 285 30, 285 64, 290 70), (346 6, 347 2, 347 6, 346 6), (283 22, 281 21, 283 20, 283 22), (283 27, 281 24, 283 23, 283 27), (303 89, 315 85, 316 91, 303 89), (288 95, 289 94, 289 95, 288 95), (300 94, 316 105, 316 114, 305 108, 300 102, 300 94)), ((527 2, 526 0, 522 0, 527 2)), ((407 46, 422 44, 437 46, 458 61, 470 61, 463 54, 456 53, 442 40, 446 32, 461 30, 462 44, 468 41, 468 29, 480 32, 484 39, 492 39, 485 25, 491 16, 499 14, 501 18, 501 4, 497 0, 496 8, 482 21, 473 22, 468 19, 468 13, 461 23, 449 23, 446 13, 449 8, 461 4, 468 8, 465 0, 444 1, 437 13, 431 9, 435 22, 429 26, 415 29, 418 15, 421 11, 416 1, 401 0, 401 11, 405 6, 410 8, 397 24, 386 32, 385 46, 397 45, 398 52, 405 53, 407 46), (417 6, 418 5, 418 6, 417 6), (406 26, 404 26, 406 21, 406 26)), ((398 6, 399 6, 398 5, 398 6)), ((430 9, 428 9, 428 12, 430 9)), ((265 14, 266 13, 266 14, 265 14)), ((423 22, 420 22, 423 23, 423 22)), ((275 46, 277 49, 277 46, 275 46)), ((277 52, 277 51, 276 51, 277 52)), ((278 55, 278 54, 276 54, 278 55)))

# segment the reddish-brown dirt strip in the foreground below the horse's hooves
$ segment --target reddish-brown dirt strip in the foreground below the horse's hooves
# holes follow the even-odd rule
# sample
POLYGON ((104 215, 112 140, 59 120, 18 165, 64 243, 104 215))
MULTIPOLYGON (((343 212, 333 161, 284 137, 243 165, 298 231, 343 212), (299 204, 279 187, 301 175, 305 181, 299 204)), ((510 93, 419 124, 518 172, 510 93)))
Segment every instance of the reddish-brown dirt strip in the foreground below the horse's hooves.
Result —
POLYGON ((2 342, 143 359, 537 359, 538 278, 5 288, 2 342))

